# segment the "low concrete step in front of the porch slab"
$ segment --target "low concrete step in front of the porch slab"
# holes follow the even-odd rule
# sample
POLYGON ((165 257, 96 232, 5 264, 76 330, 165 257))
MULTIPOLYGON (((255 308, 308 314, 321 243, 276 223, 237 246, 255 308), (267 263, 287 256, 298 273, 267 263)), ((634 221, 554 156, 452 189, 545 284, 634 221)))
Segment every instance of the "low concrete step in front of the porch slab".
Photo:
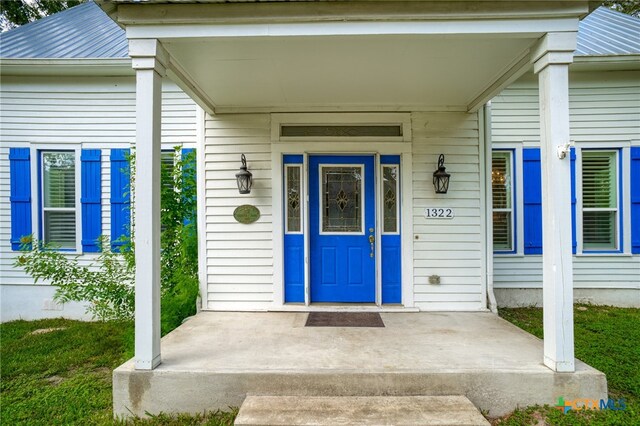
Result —
POLYGON ((487 426, 464 396, 255 396, 240 407, 237 426, 487 426))

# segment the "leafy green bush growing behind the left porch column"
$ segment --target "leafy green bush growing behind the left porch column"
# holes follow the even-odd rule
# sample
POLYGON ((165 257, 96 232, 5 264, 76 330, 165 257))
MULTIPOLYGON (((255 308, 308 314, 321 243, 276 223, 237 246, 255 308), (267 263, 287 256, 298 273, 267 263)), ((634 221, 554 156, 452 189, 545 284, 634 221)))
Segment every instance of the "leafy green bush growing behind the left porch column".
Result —
MULTIPOLYGON (((196 232, 196 168, 193 152, 163 163, 161 185, 161 320, 166 334, 195 313, 198 296, 198 236, 196 232)), ((130 158, 135 170, 135 158, 130 158)), ((135 199, 135 183, 129 192, 135 199)), ((133 214, 132 214, 133 217, 133 214)), ((135 232, 132 224, 131 234, 135 232)), ((98 257, 82 264, 80 255, 70 256, 53 245, 23 239, 24 253, 15 262, 36 282, 46 280, 57 287, 59 302, 89 302, 88 312, 100 320, 128 320, 134 314, 135 245, 123 238, 121 252, 109 250, 106 237, 99 238, 98 257)))

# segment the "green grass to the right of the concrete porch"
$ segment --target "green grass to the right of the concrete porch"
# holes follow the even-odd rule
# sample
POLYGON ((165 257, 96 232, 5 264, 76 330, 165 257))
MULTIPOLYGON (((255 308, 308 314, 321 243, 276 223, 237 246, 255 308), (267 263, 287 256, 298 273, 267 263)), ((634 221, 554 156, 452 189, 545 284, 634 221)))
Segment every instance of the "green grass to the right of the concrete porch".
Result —
MULTIPOLYGON (((500 316, 542 338, 541 308, 501 309, 500 316)), ((493 419, 492 424, 640 424, 640 309, 576 305, 574 335, 576 358, 607 375, 609 398, 624 399, 626 410, 570 411, 564 414, 553 407, 532 406, 493 419)))

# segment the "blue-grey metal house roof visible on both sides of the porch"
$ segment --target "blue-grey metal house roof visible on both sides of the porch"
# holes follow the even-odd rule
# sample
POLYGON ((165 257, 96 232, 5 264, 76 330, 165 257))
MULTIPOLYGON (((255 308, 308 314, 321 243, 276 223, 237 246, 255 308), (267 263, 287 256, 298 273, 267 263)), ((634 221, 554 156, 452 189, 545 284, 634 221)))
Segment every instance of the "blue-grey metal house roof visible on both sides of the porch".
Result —
MULTIPOLYGON (((640 19, 599 7, 580 22, 576 56, 640 54, 640 19)), ((2 58, 126 58, 124 30, 88 2, 0 34, 2 58)))

